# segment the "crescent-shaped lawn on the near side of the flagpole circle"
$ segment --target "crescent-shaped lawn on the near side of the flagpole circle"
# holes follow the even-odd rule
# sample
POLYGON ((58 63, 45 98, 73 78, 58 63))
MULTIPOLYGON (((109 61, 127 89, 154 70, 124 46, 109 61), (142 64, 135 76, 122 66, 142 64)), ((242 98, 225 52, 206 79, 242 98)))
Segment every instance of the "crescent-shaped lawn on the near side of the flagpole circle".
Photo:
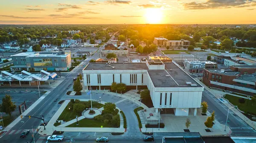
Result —
POLYGON ((112 128, 110 124, 105 124, 104 122, 101 122, 100 120, 94 120, 94 119, 82 119, 78 121, 79 125, 76 125, 76 123, 73 123, 66 127, 89 127, 89 128, 100 128, 103 126, 103 128, 112 128))

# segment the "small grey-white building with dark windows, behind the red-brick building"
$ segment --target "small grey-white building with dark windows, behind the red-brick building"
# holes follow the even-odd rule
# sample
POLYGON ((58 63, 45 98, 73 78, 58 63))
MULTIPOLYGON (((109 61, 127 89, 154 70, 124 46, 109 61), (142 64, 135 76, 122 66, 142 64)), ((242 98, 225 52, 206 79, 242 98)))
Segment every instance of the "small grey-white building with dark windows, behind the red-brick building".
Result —
POLYGON ((200 73, 204 71, 204 68, 218 68, 218 64, 211 61, 189 61, 184 60, 184 66, 189 69, 190 73, 200 73))

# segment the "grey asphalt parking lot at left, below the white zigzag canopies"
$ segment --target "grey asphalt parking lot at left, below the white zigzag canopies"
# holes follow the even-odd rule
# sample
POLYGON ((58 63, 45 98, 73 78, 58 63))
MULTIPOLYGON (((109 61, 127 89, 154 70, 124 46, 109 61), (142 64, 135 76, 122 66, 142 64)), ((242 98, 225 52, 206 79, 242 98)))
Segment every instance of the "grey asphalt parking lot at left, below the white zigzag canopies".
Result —
MULTIPOLYGON (((40 95, 42 96, 45 92, 41 92, 40 95)), ((20 89, 12 89, 12 90, 0 90, 0 99, 3 99, 5 95, 10 95, 12 97, 12 102, 15 102, 16 109, 15 112, 12 112, 12 115, 15 116, 19 114, 19 105, 25 101, 26 108, 29 108, 36 100, 39 98, 38 90, 20 90, 20 89)), ((2 103, 2 100, 0 100, 0 103, 2 103)), ((23 107, 24 111, 24 107, 23 107)), ((6 114, 3 113, 3 116, 6 114)))

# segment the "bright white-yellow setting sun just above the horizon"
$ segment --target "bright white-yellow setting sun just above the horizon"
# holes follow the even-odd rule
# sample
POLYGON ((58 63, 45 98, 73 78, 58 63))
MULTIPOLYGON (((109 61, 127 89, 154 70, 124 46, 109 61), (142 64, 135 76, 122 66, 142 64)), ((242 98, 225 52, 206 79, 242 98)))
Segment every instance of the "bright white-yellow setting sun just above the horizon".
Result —
POLYGON ((158 24, 162 21, 163 12, 161 9, 146 9, 144 17, 146 23, 158 24))

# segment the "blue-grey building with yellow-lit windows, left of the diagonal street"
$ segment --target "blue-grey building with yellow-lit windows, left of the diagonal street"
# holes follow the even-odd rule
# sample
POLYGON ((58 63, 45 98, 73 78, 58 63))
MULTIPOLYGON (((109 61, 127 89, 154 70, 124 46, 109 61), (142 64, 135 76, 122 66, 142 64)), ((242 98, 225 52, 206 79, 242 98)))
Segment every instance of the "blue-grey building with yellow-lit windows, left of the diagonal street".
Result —
POLYGON ((12 55, 11 71, 67 71, 71 67, 71 51, 23 52, 12 55))

